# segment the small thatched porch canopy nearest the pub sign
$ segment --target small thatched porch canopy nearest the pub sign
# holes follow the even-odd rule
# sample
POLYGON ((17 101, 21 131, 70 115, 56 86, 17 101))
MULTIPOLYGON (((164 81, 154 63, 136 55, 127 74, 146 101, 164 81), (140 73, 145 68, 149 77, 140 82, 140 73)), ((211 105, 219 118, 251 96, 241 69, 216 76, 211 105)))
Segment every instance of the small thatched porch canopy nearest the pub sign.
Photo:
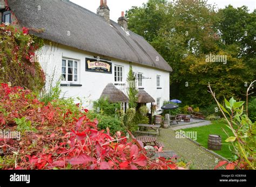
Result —
POLYGON ((110 103, 128 103, 128 97, 112 83, 109 83, 104 88, 100 98, 108 99, 110 103))

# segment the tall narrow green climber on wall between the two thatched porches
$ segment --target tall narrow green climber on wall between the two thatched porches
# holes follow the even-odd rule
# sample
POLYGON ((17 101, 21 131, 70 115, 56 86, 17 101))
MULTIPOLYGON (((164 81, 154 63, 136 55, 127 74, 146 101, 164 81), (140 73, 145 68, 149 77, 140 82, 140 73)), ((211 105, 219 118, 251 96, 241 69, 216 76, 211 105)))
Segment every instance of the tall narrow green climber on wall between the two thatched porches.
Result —
POLYGON ((129 108, 136 109, 137 107, 137 101, 138 101, 138 90, 136 89, 136 83, 135 83, 136 77, 132 71, 132 64, 130 63, 130 70, 127 76, 127 82, 129 84, 129 108))

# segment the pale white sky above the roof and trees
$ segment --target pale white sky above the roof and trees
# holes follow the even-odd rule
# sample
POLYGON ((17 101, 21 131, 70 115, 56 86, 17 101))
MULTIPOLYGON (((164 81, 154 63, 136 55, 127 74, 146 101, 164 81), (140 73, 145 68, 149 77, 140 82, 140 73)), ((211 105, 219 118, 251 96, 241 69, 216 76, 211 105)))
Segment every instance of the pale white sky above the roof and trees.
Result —
MULTIPOLYGON (((76 3, 84 8, 97 12, 99 7, 100 0, 70 0, 73 3, 76 3)), ((132 6, 142 6, 143 3, 146 3, 147 0, 107 0, 107 5, 110 8, 110 19, 117 21, 121 16, 122 11, 126 11, 132 8, 132 6)), ((242 5, 248 6, 250 12, 255 9, 256 0, 208 0, 209 4, 216 4, 218 8, 225 8, 226 5, 231 4, 235 8, 242 5)))

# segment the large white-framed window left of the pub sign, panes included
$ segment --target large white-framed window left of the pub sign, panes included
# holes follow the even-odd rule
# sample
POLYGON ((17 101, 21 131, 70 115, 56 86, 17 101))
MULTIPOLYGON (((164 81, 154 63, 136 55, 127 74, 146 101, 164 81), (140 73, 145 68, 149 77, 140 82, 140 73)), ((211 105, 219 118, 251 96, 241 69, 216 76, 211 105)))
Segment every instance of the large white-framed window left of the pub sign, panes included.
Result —
POLYGON ((77 69, 78 69, 78 61, 63 59, 62 60, 62 81, 78 82, 77 69))

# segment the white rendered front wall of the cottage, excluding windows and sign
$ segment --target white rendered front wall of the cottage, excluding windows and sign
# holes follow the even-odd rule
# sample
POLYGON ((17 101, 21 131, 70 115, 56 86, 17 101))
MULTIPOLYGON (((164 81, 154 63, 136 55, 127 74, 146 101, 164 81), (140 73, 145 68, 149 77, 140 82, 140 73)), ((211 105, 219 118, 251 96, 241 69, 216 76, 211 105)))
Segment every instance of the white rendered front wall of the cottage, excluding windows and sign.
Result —
MULTIPOLYGON (((129 72, 129 62, 113 59, 111 57, 100 56, 97 54, 80 51, 75 48, 63 46, 59 44, 45 45, 37 52, 38 61, 41 64, 46 74, 46 89, 49 88, 50 82, 53 85, 59 80, 62 74, 62 59, 75 59, 78 61, 78 82, 82 87, 62 87, 62 97, 79 97, 83 99, 84 106, 87 109, 92 109, 92 102, 99 99, 103 89, 108 83, 114 82, 114 65, 124 67, 124 85, 116 85, 126 95, 126 78, 129 72), (96 73, 85 71, 85 58, 89 57, 95 59, 93 56, 100 56, 103 59, 110 59, 112 62, 112 74, 96 73)), ((164 100, 169 100, 170 97, 170 74, 168 71, 163 71, 140 64, 132 63, 134 73, 143 73, 144 77, 150 79, 143 79, 142 88, 149 93, 156 101, 161 98, 160 106, 163 105, 164 100), (157 89, 157 75, 160 75, 160 88, 157 89)), ((65 82, 62 82, 65 83, 65 82)), ((150 108, 151 104, 147 104, 150 108)), ((157 112, 157 113, 160 113, 157 112)))

